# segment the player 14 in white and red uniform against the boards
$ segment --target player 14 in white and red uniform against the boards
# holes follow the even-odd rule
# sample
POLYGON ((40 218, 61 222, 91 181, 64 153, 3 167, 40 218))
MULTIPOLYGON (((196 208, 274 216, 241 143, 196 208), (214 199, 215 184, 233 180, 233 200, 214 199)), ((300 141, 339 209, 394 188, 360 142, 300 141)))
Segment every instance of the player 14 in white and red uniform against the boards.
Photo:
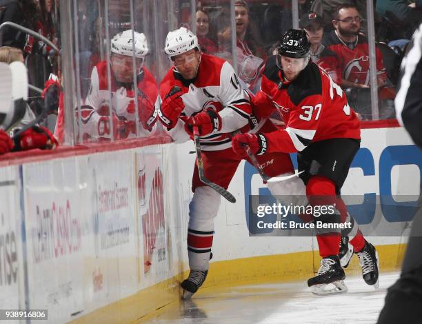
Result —
MULTIPOLYGON (((186 28, 169 32, 165 39, 165 53, 173 67, 160 84, 161 123, 176 143, 187 141, 193 128, 199 131, 205 176, 227 189, 241 162, 231 146, 231 133, 276 130, 270 121, 257 121, 252 116, 250 97, 242 90, 232 66, 218 57, 201 53, 197 37, 186 28)), ((276 152, 259 157, 268 176, 292 174, 290 156, 276 152), (278 161, 278 163, 274 163, 278 161)), ((289 186, 299 192, 304 186, 299 178, 283 185, 268 184, 277 194, 280 187, 289 186)), ((197 292, 205 281, 214 236, 214 217, 217 216, 221 196, 199 179, 195 163, 192 179, 194 192, 189 205, 188 257, 190 274, 181 283, 183 298, 197 292)))

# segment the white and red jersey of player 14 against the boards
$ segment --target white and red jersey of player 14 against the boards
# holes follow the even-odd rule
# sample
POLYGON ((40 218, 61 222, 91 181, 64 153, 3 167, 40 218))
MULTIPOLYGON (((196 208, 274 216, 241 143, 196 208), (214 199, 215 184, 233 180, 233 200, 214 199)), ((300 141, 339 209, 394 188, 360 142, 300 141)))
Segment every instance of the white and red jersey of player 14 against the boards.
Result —
MULTIPOLYGON (((248 132, 257 126, 257 120, 251 116, 250 99, 234 72, 232 65, 218 57, 202 54, 197 77, 185 80, 174 68, 170 68, 160 84, 161 101, 174 86, 182 89, 181 99, 185 108, 182 112, 187 117, 198 114, 207 108, 219 112, 221 130, 217 133, 200 137, 201 149, 205 151, 225 150, 232 145, 230 133, 241 129, 248 132)), ((261 121, 259 125, 263 124, 261 121)), ((258 128, 254 128, 256 131, 258 128)), ((177 125, 169 131, 176 143, 188 141, 184 122, 179 119, 177 125)))

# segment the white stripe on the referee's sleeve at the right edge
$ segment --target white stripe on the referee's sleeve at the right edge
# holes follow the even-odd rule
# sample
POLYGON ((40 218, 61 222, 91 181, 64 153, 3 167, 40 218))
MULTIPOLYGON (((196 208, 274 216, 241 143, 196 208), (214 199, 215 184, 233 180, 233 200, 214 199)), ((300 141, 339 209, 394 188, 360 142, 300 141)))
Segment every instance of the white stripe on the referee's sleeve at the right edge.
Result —
POLYGON ((413 42, 403 59, 403 78, 394 103, 397 119, 414 143, 422 148, 422 24, 415 32, 413 42))

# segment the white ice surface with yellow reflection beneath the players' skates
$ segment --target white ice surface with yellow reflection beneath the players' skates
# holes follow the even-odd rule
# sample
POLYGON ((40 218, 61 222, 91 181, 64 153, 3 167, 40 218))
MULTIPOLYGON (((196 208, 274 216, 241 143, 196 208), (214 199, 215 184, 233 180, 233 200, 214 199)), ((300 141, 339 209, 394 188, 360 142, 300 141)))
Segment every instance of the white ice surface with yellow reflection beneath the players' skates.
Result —
POLYGON ((164 307, 148 323, 376 323, 397 278, 399 272, 381 274, 375 290, 361 276, 349 276, 348 292, 325 296, 312 294, 305 281, 203 288, 190 301, 164 307))

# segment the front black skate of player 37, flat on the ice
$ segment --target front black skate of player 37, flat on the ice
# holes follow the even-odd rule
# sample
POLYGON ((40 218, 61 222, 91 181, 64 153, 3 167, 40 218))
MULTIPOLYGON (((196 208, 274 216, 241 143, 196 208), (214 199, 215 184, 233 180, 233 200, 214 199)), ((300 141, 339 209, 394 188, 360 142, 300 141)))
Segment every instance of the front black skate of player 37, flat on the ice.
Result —
POLYGON ((339 256, 327 256, 321 260, 318 274, 308 280, 308 287, 314 294, 335 294, 347 292, 345 274, 339 256))

